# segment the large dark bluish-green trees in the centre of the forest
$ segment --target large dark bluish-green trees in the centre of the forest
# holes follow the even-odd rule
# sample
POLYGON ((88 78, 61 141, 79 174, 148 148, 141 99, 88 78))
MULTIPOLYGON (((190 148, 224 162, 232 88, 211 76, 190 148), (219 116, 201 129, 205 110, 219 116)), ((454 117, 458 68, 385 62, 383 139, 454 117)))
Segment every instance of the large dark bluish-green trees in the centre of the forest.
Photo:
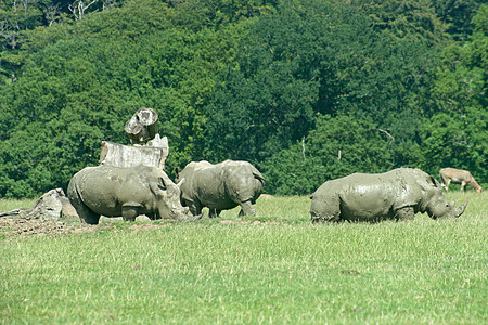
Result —
POLYGON ((206 107, 214 160, 262 161, 307 136, 316 113, 371 119, 398 145, 418 143, 420 116, 433 110, 435 51, 391 43, 352 6, 304 3, 283 2, 243 39, 237 64, 206 107))

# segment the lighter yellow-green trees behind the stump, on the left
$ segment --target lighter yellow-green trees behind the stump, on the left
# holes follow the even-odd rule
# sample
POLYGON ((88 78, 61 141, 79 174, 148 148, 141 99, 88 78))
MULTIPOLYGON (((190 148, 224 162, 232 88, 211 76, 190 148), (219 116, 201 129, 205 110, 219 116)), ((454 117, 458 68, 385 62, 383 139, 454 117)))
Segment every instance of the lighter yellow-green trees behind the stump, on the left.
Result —
POLYGON ((22 78, 2 90, 9 100, 0 104, 0 156, 12 158, 0 167, 0 196, 65 187, 76 171, 97 164, 102 140, 128 142, 124 123, 141 107, 158 112, 160 133, 170 139, 169 162, 196 155, 201 107, 216 74, 232 61, 245 24, 193 32, 171 27, 171 15, 162 16, 164 4, 140 4, 86 17, 76 30, 52 27, 40 39, 33 34, 26 49, 35 52, 22 78), (159 14, 144 15, 150 6, 159 14))

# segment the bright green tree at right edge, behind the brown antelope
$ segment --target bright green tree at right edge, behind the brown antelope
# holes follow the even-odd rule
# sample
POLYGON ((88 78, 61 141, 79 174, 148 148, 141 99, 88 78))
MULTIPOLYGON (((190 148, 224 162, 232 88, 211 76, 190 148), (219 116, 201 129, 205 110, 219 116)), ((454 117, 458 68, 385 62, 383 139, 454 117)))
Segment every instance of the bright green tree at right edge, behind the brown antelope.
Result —
POLYGON ((479 182, 488 179, 488 5, 474 18, 475 30, 464 44, 445 49, 433 92, 440 112, 422 127, 423 167, 467 169, 479 182))

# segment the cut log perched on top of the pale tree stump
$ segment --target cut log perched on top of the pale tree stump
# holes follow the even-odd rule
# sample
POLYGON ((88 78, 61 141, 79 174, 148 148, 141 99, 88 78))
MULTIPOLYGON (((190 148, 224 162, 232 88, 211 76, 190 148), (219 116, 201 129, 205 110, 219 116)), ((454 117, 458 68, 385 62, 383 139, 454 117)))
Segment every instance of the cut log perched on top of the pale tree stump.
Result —
POLYGON ((157 113, 151 108, 141 108, 126 122, 124 129, 130 143, 145 144, 157 134, 157 113))

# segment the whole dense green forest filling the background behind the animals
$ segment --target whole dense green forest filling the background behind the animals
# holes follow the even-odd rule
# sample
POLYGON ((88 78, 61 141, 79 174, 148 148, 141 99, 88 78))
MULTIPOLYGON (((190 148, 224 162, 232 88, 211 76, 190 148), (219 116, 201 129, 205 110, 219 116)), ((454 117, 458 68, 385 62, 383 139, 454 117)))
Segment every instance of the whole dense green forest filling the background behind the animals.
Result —
POLYGON ((303 195, 351 172, 488 180, 481 0, 0 0, 0 197, 66 188, 142 107, 191 160, 303 195))

